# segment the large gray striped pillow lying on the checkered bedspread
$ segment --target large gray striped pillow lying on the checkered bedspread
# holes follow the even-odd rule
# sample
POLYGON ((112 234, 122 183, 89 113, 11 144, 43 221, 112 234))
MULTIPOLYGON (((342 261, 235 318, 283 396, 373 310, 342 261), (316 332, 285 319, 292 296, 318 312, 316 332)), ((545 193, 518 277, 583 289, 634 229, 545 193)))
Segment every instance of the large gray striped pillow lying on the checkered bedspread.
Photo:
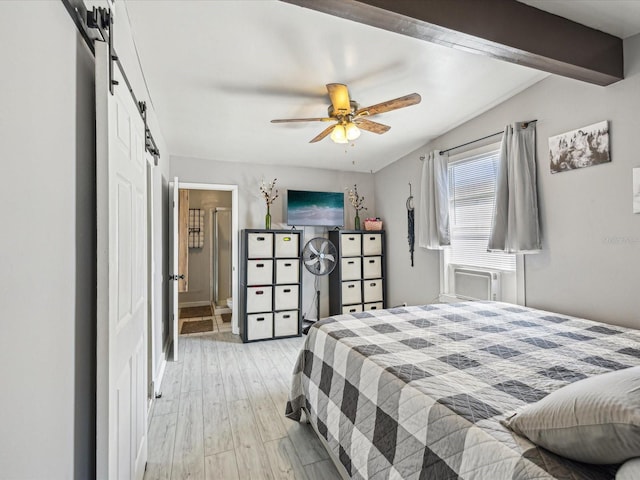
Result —
POLYGON ((566 385, 502 424, 580 462, 621 463, 640 457, 640 367, 566 385))

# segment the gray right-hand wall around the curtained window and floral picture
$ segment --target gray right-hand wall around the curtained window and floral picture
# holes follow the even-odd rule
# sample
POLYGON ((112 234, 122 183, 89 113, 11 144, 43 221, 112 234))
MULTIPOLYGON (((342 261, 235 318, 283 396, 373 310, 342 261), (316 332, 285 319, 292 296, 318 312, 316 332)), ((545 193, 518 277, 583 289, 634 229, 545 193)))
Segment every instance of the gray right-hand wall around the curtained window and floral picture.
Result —
POLYGON ((416 266, 408 263, 404 201, 408 182, 419 197, 418 157, 537 118, 544 250, 526 257, 527 305, 640 328, 640 215, 631 209, 631 171, 640 166, 640 36, 624 47, 625 80, 598 87, 549 77, 376 173, 391 303, 425 303, 439 293, 437 252, 417 249, 416 266), (610 122, 612 162, 551 175, 548 137, 600 120, 610 122))

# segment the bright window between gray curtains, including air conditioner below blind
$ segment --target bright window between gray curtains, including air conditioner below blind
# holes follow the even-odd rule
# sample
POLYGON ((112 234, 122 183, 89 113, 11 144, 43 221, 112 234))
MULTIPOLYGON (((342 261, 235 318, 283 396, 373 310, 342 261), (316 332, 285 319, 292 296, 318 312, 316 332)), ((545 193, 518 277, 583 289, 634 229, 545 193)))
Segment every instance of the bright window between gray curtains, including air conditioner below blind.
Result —
MULTIPOLYGON (((473 282, 460 271, 486 272, 488 298, 516 303, 518 255, 487 252, 496 196, 499 145, 452 157, 449 161, 451 246, 442 255, 442 292, 465 298, 461 282, 473 282), (489 274, 493 275, 490 277, 489 274), (456 281, 460 285, 456 285, 456 281)), ((522 269, 520 269, 522 270, 522 269)), ((479 282, 482 281, 480 277, 479 282)), ((484 288, 484 287, 483 287, 484 288)), ((480 290, 482 292, 482 290, 480 290)), ((480 294, 482 297, 484 293, 480 294)), ((476 298, 473 295, 471 298, 476 298)), ((518 302, 519 303, 519 302, 518 302)))

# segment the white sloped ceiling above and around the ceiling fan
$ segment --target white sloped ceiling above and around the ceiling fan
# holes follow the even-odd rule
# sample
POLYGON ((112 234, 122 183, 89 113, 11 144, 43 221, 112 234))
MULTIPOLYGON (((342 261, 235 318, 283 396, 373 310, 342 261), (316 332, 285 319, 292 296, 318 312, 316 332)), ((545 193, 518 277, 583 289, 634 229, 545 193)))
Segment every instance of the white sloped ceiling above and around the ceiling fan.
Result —
MULTIPOLYGON (((564 12, 593 2, 526 3, 564 12)), ((174 156, 377 171, 547 75, 279 1, 127 0, 126 6, 174 156), (332 82, 346 83, 361 106, 412 92, 422 103, 376 116, 391 130, 363 132, 346 147, 329 138, 308 143, 324 123, 269 122, 326 115, 325 84, 332 82)), ((604 22, 599 7, 595 19, 604 22)), ((630 26, 620 28, 631 34, 630 26)))

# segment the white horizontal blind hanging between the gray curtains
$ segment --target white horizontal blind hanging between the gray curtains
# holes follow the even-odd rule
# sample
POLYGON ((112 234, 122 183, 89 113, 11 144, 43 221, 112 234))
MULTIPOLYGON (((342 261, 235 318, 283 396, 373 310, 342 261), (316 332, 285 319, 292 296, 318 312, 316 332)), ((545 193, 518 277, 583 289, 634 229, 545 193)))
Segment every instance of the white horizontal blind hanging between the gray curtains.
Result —
POLYGON ((447 263, 516 270, 516 256, 487 252, 496 197, 498 150, 449 164, 451 248, 447 263))

